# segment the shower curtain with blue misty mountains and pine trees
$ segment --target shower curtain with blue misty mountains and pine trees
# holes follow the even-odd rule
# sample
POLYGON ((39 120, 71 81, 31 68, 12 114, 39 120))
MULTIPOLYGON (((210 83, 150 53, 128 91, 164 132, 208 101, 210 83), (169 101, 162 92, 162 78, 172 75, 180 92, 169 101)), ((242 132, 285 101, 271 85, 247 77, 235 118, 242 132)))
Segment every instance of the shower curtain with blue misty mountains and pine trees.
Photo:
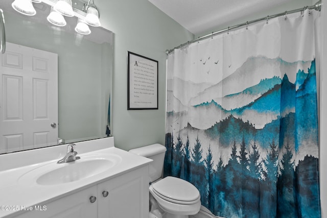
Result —
POLYGON ((164 176, 223 217, 321 217, 319 12, 280 16, 168 56, 164 176))

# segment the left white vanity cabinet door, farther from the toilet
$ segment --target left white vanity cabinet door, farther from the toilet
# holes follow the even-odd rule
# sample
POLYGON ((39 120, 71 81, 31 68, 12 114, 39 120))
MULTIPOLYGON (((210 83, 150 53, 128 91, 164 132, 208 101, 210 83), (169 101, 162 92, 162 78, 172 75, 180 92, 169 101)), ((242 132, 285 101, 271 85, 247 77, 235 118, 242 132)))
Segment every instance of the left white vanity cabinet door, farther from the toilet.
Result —
MULTIPOLYGON (((15 218, 89 218, 97 217, 97 202, 90 202, 90 197, 97 195, 97 186, 92 186, 72 195, 57 199, 50 203, 33 206, 31 211, 15 218), (38 209, 42 210, 38 210, 38 209)), ((94 199, 92 199, 94 200, 94 199)))

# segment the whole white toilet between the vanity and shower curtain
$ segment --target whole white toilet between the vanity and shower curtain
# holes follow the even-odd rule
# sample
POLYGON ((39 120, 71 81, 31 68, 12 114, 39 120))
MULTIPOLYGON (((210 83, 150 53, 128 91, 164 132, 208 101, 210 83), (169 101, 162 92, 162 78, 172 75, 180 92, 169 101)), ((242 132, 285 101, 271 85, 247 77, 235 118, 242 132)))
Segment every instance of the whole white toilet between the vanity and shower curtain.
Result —
MULTIPOLYGON (((149 191, 159 207, 165 211, 165 218, 188 218, 199 212, 200 192, 194 185, 176 177, 160 179, 164 169, 165 146, 151 144, 129 152, 153 160, 150 163, 149 191)), ((150 217, 159 218, 159 215, 150 213, 150 217)))

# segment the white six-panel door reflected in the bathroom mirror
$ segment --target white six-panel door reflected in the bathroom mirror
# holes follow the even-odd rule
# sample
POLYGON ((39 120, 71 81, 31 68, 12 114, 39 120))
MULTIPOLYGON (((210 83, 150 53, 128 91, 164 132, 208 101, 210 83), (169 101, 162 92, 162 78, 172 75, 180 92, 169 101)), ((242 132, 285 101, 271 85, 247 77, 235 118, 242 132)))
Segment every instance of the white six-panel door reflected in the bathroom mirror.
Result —
POLYGON ((7 42, 0 57, 0 154, 56 144, 58 55, 7 42))

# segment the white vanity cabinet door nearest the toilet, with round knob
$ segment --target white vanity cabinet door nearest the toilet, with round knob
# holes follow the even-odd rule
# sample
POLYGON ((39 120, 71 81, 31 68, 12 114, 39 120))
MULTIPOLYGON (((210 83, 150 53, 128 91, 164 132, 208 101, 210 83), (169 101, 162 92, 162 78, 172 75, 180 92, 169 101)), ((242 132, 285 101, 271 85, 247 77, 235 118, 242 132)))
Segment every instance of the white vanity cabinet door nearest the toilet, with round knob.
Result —
POLYGON ((98 218, 149 217, 149 166, 98 184, 98 218))

